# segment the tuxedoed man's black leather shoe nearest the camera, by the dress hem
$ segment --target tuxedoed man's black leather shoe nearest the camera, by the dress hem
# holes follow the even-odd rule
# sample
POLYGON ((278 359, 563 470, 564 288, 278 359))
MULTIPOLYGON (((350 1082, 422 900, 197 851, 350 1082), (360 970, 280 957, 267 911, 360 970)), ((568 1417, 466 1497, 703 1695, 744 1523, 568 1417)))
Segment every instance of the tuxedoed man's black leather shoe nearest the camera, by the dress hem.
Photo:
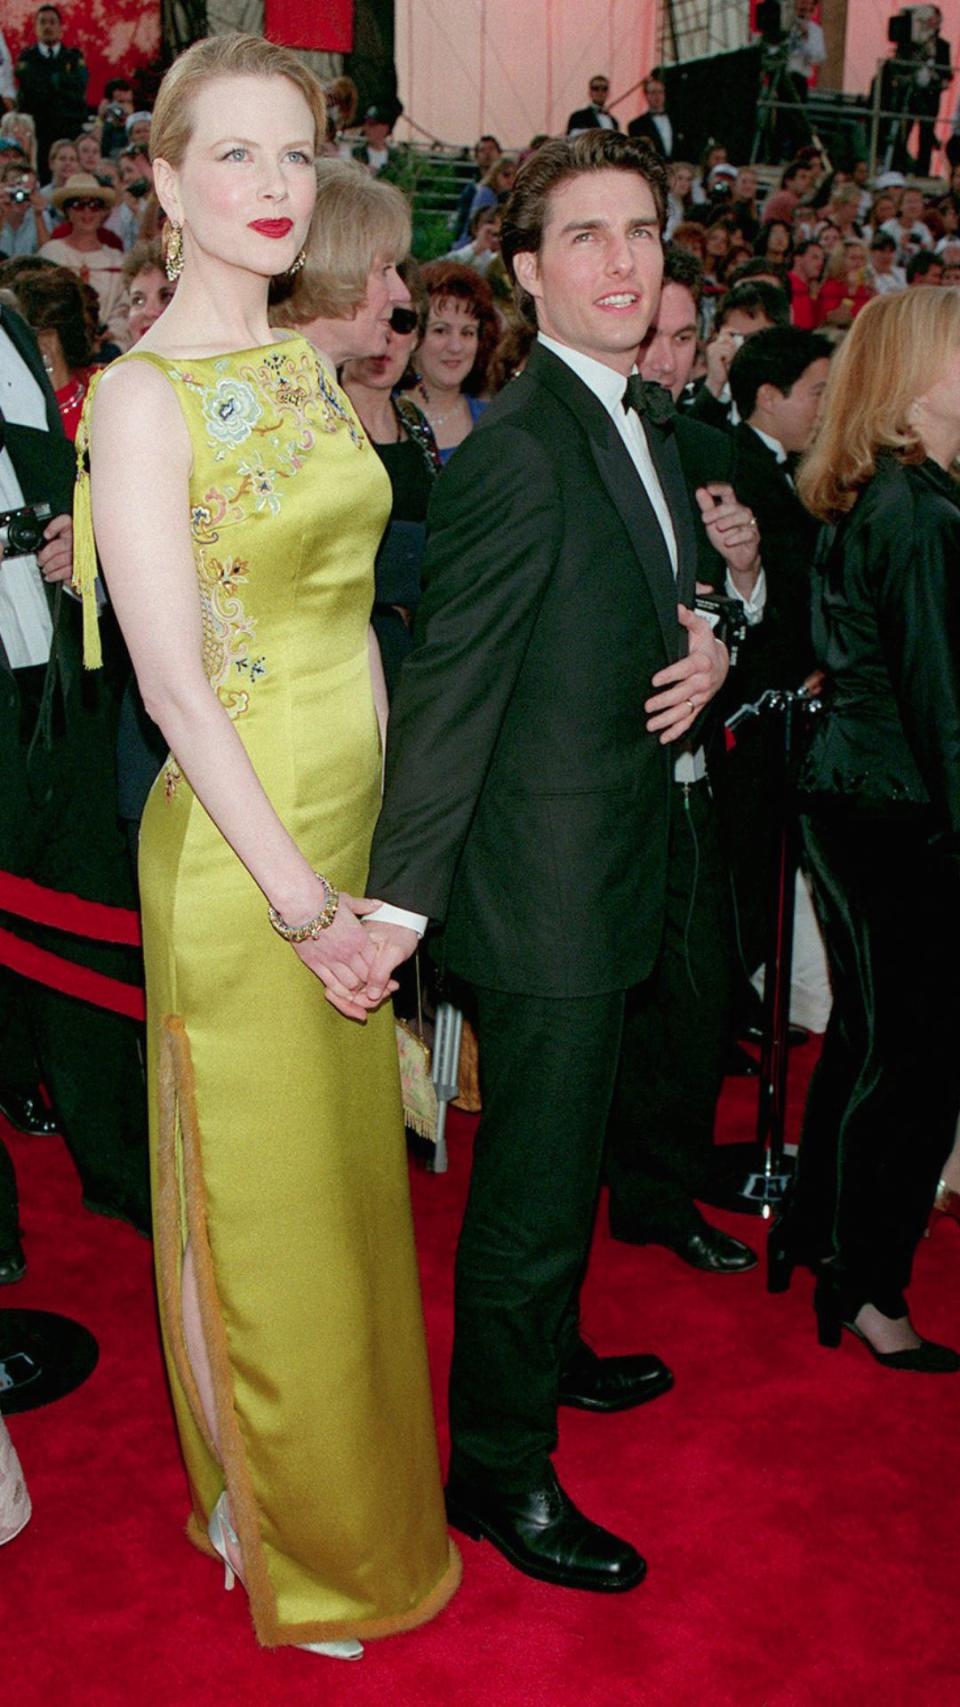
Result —
POLYGON ((618 1594, 647 1574, 635 1547, 584 1518, 552 1470, 524 1494, 478 1489, 451 1477, 446 1511, 454 1529, 492 1541, 518 1570, 562 1589, 618 1594))

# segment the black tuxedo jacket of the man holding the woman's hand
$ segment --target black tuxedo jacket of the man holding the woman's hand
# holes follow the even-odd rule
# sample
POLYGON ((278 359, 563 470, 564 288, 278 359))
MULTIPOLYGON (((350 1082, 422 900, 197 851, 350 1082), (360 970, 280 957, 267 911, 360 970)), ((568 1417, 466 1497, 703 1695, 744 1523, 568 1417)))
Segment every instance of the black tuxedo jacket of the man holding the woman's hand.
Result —
POLYGON ((644 727, 685 647, 697 534, 647 425, 680 574, 610 415, 535 345, 437 480, 367 893, 442 923, 473 983, 577 997, 656 958, 675 749, 644 727))

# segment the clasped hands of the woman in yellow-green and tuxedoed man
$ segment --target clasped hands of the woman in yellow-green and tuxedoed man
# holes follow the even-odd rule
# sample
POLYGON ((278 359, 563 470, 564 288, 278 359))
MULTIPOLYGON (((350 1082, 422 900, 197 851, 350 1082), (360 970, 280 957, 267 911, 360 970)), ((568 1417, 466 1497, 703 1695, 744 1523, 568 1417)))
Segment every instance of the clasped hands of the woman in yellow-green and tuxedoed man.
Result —
POLYGON ((319 937, 294 946, 304 966, 319 978, 326 1000, 347 1019, 366 1022, 371 1009, 393 995, 396 966, 417 947, 417 932, 403 925, 362 925, 381 901, 340 891, 333 923, 319 937))

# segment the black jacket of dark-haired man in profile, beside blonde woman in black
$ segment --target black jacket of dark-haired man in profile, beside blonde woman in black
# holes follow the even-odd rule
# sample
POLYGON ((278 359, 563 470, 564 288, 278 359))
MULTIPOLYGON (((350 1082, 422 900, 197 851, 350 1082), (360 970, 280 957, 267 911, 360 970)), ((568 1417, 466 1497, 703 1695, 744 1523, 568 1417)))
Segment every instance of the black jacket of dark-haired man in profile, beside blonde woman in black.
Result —
POLYGON ((765 688, 799 688, 813 669, 810 577, 820 522, 799 502, 786 464, 745 422, 733 432, 733 485, 757 517, 767 577, 764 621, 750 628, 736 673, 740 698, 755 698, 765 688))

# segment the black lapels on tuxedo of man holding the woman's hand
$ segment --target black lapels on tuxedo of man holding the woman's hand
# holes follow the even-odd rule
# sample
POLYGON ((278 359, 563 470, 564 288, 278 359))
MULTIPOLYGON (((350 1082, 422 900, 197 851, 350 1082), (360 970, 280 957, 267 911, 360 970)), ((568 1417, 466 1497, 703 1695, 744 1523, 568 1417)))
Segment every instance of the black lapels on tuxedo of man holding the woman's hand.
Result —
MULTIPOLYGON (((553 391, 555 396, 562 398, 567 408, 571 408, 576 415, 582 432, 586 432, 600 478, 603 480, 610 500, 634 545, 637 562, 644 572, 644 579, 656 608, 666 655, 673 661, 678 655, 680 647, 680 625, 676 621, 678 584, 673 579, 673 565, 670 562, 670 553, 666 550, 666 541, 656 519, 654 507, 646 495, 644 483, 637 475, 634 463, 630 461, 627 446, 623 444, 600 398, 596 398, 589 386, 584 386, 572 369, 569 369, 567 364, 555 357, 550 350, 545 350, 538 343, 533 345, 528 358, 528 372, 535 374, 541 384, 553 391)), ((653 437, 656 437, 656 432, 649 434, 649 439, 653 437)), ((659 461, 656 457, 654 463, 659 473, 659 461)), ((676 468, 680 468, 678 461, 676 468)), ((687 490, 682 485, 682 476, 680 498, 676 497, 676 483, 671 478, 670 488, 664 485, 664 495, 673 514, 675 527, 678 512, 683 521, 687 521, 688 498, 687 490)), ((690 546, 680 556, 682 563, 683 556, 687 562, 692 562, 690 546)))

